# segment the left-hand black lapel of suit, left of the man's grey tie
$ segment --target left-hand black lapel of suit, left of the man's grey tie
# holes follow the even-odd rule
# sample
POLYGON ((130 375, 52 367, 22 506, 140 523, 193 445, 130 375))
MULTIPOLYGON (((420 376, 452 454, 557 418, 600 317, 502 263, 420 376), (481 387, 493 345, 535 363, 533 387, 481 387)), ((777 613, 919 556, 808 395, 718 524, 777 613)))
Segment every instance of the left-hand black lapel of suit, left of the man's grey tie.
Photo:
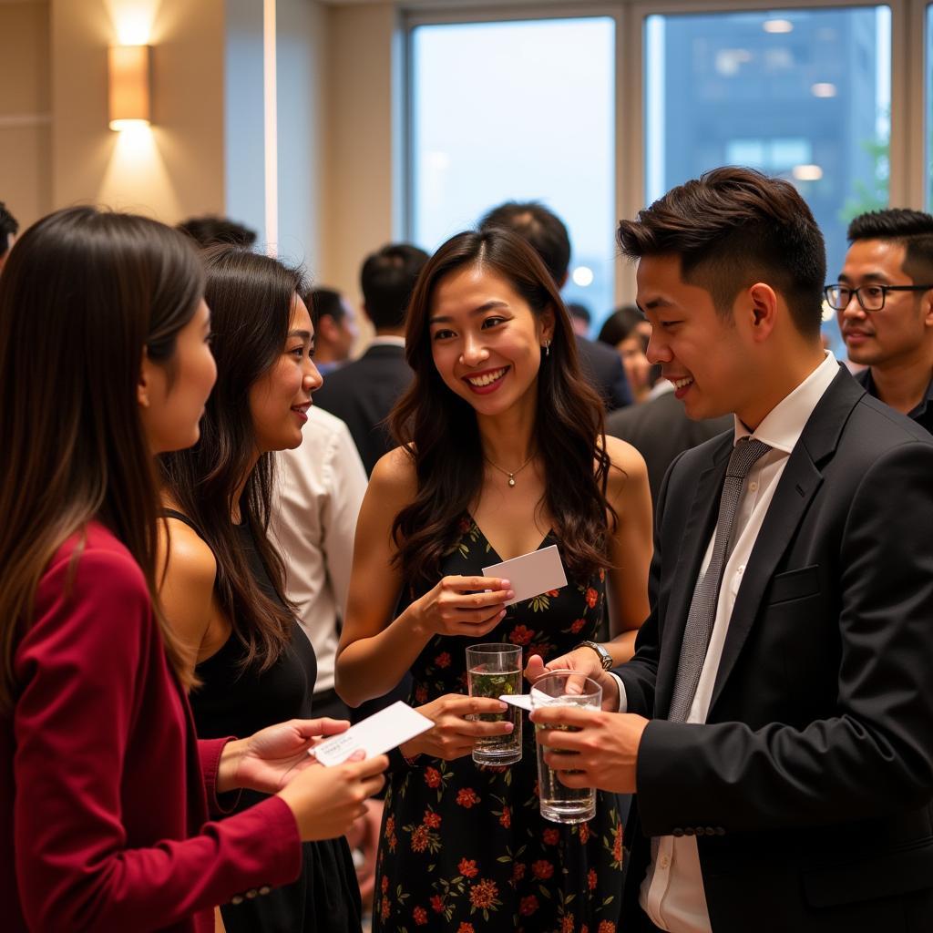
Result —
POLYGON ((674 678, 680 659, 680 643, 687 625, 690 601, 696 586, 703 555, 716 527, 719 497, 726 475, 726 465, 732 451, 732 439, 724 439, 712 454, 709 466, 697 480, 689 517, 680 534, 683 541, 674 571, 671 597, 664 613, 664 630, 661 639, 661 658, 658 663, 658 679, 655 697, 655 714, 667 716, 674 692, 674 678))

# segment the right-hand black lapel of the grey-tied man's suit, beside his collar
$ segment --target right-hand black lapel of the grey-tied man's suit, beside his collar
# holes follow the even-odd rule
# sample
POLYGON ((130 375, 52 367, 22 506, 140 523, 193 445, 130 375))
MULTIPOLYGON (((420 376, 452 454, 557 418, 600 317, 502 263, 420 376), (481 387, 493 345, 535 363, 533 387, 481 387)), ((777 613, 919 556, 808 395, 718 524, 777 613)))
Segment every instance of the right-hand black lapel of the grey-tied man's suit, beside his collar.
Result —
POLYGON ((819 467, 835 453, 842 428, 858 399, 865 395, 865 390, 848 371, 842 367, 840 369, 804 425, 801 438, 790 453, 748 564, 745 565, 710 699, 711 712, 738 660, 748 633, 759 617, 762 599, 774 571, 787 552, 823 481, 819 467))

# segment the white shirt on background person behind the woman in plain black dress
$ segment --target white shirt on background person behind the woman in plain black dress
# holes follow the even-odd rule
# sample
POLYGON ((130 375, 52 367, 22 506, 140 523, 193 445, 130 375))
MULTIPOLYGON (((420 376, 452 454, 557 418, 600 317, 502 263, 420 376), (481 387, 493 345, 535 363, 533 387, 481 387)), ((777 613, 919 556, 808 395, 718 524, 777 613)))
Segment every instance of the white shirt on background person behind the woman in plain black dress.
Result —
POLYGON ((346 612, 366 470, 346 425, 312 406, 304 439, 277 454, 270 530, 285 562, 285 592, 317 656, 314 692, 332 689, 346 612))

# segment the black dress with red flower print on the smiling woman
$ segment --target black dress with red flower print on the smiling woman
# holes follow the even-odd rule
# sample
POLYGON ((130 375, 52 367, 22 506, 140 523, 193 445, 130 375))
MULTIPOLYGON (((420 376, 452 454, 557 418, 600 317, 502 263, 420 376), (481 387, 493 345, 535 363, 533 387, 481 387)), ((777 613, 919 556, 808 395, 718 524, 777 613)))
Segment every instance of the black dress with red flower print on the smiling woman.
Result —
MULTIPOLYGON (((476 522, 460 523, 441 574, 481 575, 499 560, 476 522)), ((548 535, 540 547, 560 545, 548 535)), ((521 645, 545 660, 592 637, 605 574, 510 606, 480 639, 436 636, 411 668, 411 703, 466 693, 466 647, 521 645)), ((535 734, 524 717, 522 760, 480 768, 466 756, 428 757, 389 781, 380 840, 374 933, 616 933, 621 907, 622 825, 615 794, 597 793, 588 823, 561 826, 538 807, 535 734)))

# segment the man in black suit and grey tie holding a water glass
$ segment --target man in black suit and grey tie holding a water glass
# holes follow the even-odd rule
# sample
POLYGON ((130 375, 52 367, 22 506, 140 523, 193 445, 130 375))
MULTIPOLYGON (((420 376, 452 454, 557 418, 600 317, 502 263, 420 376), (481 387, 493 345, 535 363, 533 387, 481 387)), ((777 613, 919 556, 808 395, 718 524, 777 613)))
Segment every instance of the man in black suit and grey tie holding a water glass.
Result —
POLYGON ((605 712, 536 711, 579 727, 548 759, 636 791, 627 930, 929 931, 933 438, 824 354, 823 239, 787 182, 717 169, 619 239, 648 357, 734 439, 664 481, 634 659, 550 662, 605 712))

